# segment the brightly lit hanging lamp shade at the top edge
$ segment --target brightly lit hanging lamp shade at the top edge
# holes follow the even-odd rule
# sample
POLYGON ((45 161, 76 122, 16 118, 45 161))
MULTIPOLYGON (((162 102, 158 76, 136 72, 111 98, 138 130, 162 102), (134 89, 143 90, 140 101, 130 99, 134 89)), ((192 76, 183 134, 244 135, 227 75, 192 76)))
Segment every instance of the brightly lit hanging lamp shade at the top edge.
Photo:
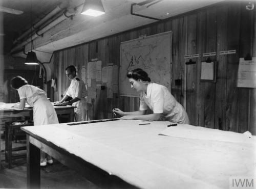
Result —
POLYGON ((101 0, 86 0, 84 2, 81 14, 89 16, 100 16, 105 14, 101 0))

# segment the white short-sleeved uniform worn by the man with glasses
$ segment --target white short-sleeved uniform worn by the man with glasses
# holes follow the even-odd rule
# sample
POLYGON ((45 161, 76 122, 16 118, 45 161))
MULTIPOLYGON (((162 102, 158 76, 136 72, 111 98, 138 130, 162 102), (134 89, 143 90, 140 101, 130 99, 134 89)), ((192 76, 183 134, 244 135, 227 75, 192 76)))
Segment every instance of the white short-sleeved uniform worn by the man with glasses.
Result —
POLYGON ((86 121, 87 115, 87 101, 85 97, 87 96, 86 85, 77 76, 71 80, 71 84, 66 92, 66 95, 74 98, 79 98, 80 100, 74 102, 72 105, 76 106, 75 118, 76 121, 86 121))

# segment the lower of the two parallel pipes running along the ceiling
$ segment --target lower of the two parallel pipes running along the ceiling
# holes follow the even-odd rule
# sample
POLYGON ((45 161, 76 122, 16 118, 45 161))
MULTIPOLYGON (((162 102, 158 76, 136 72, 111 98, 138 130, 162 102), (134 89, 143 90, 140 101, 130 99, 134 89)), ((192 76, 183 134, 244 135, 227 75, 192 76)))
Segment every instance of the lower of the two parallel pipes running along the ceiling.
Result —
POLYGON ((61 16, 50 22, 48 25, 46 25, 44 28, 37 31, 35 34, 32 35, 32 37, 28 37, 27 40, 23 41, 22 43, 16 45, 14 48, 11 49, 11 53, 15 50, 18 50, 20 47, 23 47, 24 45, 28 44, 29 42, 33 41, 35 38, 42 36, 45 32, 53 28, 58 23, 62 22, 63 20, 67 18, 71 18, 76 13, 76 10, 71 8, 65 11, 61 16))

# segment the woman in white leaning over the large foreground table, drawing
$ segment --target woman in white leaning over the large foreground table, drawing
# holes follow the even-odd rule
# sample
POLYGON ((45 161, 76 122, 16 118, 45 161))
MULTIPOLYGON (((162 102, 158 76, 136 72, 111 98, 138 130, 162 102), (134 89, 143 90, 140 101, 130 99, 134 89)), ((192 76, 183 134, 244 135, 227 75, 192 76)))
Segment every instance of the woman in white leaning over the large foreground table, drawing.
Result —
POLYGON ((189 124, 189 119, 183 106, 174 98, 168 89, 162 85, 151 83, 150 77, 138 68, 127 73, 131 87, 140 92, 140 109, 136 112, 123 112, 114 109, 120 119, 137 119, 160 121, 168 120, 173 123, 189 124), (148 107, 153 114, 147 114, 148 107))

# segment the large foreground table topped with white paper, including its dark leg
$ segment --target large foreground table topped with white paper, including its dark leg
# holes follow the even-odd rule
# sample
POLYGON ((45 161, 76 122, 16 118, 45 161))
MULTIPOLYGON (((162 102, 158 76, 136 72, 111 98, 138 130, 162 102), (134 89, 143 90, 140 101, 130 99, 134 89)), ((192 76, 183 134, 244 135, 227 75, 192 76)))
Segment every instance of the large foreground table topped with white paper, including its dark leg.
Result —
POLYGON ((27 132, 28 188, 40 187, 40 150, 104 188, 229 188, 232 176, 255 176, 255 139, 236 141, 244 136, 216 129, 184 138, 183 133, 195 132, 189 125, 141 123, 145 122, 22 127, 27 132), (168 130, 176 136, 159 135, 169 128, 176 128, 168 130), (211 134, 223 138, 214 140, 211 134))

